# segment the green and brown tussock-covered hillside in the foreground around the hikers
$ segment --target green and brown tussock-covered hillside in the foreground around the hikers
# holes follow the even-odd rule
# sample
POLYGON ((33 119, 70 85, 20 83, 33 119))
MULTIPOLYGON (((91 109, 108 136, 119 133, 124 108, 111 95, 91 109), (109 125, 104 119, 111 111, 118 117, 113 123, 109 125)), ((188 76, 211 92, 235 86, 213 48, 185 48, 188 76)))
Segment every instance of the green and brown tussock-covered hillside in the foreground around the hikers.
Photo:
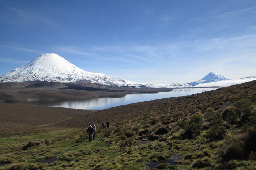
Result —
POLYGON ((4 165, 0 169, 253 170, 256 81, 113 107, 36 127, 45 132, 0 138, 4 165), (110 128, 101 129, 106 120, 110 128), (92 122, 98 135, 87 143, 86 129, 92 122), (22 151, 37 139, 45 142, 22 151))

